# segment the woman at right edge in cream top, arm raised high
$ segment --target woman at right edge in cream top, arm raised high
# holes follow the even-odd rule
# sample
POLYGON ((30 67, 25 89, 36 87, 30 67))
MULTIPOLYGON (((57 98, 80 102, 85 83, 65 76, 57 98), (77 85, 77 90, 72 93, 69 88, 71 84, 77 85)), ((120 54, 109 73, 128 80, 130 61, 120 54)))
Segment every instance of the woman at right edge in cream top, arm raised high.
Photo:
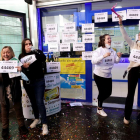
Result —
MULTIPOLYGON (((138 34, 138 40, 136 42, 134 42, 127 35, 127 33, 123 27, 123 24, 122 24, 121 16, 119 16, 119 25, 120 25, 120 31, 122 33, 123 38, 125 39, 125 41, 128 43, 128 45, 131 48, 131 54, 133 53, 133 50, 134 51, 140 50, 140 33, 138 34)), ((140 63, 134 62, 133 60, 131 60, 131 58, 129 58, 129 61, 130 61, 130 64, 127 68, 128 94, 126 97, 125 111, 124 111, 124 123, 125 124, 130 123, 130 117, 132 114, 132 107, 133 107, 133 102, 134 102, 135 89, 136 89, 136 85, 138 83, 138 78, 140 75, 140 63)))

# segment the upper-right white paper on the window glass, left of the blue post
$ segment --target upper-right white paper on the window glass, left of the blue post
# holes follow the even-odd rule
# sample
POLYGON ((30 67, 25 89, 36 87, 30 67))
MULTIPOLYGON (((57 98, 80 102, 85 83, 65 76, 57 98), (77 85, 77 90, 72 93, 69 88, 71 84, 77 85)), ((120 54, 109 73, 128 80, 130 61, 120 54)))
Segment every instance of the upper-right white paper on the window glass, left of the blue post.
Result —
POLYGON ((64 31, 67 32, 74 32, 76 31, 76 23, 75 22, 68 22, 64 24, 64 31))

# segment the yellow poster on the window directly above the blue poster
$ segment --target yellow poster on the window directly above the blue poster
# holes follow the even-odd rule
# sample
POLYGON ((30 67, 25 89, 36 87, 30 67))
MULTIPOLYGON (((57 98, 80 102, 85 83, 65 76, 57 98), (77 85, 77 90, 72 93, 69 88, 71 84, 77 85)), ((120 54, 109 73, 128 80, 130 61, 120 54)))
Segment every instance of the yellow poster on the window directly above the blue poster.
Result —
POLYGON ((85 74, 85 61, 82 58, 59 58, 60 74, 85 74))

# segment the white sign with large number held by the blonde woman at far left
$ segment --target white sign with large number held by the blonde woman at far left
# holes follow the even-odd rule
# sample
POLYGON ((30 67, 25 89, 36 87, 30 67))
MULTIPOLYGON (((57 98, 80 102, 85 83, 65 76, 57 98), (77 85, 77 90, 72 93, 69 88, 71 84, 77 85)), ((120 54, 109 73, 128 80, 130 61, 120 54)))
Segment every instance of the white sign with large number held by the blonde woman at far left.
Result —
POLYGON ((17 72, 17 66, 16 60, 0 61, 0 73, 17 72))

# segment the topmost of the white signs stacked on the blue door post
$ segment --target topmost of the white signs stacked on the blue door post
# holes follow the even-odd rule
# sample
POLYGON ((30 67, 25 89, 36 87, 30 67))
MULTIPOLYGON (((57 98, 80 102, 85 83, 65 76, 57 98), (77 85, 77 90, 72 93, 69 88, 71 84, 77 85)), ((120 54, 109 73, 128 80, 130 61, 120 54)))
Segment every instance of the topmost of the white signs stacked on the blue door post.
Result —
POLYGON ((94 23, 82 24, 82 33, 94 32, 94 23))

